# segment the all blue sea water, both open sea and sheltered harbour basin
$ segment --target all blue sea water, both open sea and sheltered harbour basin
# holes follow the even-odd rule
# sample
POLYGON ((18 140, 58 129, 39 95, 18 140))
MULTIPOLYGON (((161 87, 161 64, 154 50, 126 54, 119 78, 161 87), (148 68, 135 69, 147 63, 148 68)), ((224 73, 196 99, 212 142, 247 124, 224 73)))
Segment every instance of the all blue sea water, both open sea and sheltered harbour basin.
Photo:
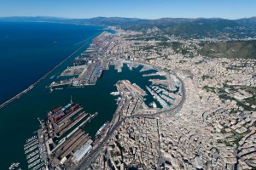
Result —
MULTIPOLYGON (((132 71, 124 65, 122 72, 116 71, 111 65, 108 71, 103 71, 95 86, 50 92, 46 87, 58 81, 58 76, 68 63, 84 52, 92 39, 105 30, 101 26, 0 22, 0 103, 19 94, 85 45, 36 87, 0 109, 0 169, 8 169, 12 162, 20 162, 21 169, 27 169, 23 145, 26 139, 37 135, 40 125, 38 118, 45 119, 48 111, 67 105, 71 96, 74 103, 84 107, 85 112, 98 112, 84 127, 84 131, 93 138, 104 122, 111 121, 117 108, 115 99, 118 97, 110 94, 117 91, 114 86, 116 82, 127 79, 147 91, 146 86, 151 84, 149 79, 163 78, 143 77, 143 74, 155 71, 141 72, 142 65, 132 71)), ((147 104, 155 101, 150 95, 145 99, 147 104)))

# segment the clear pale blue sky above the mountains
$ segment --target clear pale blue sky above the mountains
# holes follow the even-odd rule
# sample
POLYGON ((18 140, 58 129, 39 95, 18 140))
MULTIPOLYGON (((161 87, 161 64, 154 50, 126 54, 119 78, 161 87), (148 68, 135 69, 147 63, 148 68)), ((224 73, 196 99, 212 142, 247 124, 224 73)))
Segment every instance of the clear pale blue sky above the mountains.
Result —
POLYGON ((238 19, 256 16, 256 0, 0 0, 0 16, 238 19))

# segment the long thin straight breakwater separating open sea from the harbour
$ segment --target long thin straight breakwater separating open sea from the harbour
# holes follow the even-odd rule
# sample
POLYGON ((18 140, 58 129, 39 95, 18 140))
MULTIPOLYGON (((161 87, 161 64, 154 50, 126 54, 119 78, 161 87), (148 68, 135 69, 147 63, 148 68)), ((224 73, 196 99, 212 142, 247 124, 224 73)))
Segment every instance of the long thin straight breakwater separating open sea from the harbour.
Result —
MULTIPOLYGON (((101 32, 102 33, 102 32, 101 32)), ((96 33, 98 34, 97 36, 101 35, 101 33, 96 33)), ((16 94, 14 97, 12 97, 11 99, 6 100, 5 102, 3 102, 3 104, 0 105, 0 109, 3 109, 3 107, 5 107, 6 105, 9 105, 10 103, 12 103, 13 101, 15 101, 15 99, 19 99, 23 94, 26 94, 27 92, 29 92, 32 88, 34 88, 35 86, 38 85, 39 82, 41 82, 42 80, 44 80, 45 77, 47 77, 50 73, 52 73, 52 71, 55 71, 56 68, 58 68, 60 65, 62 65, 65 61, 67 61, 67 59, 70 59, 71 57, 73 57, 74 54, 78 53, 80 49, 84 48, 85 45, 88 44, 88 41, 90 40, 90 38, 93 38, 96 36, 96 34, 92 35, 91 37, 88 37, 87 39, 84 40, 84 45, 82 45, 80 48, 78 48, 77 50, 75 50, 73 52, 73 54, 70 54, 69 56, 67 56, 66 59, 62 60, 61 63, 59 63, 58 65, 55 65, 55 67, 53 69, 51 69, 50 71, 48 71, 43 77, 39 78, 37 82, 32 83, 32 85, 30 85, 28 88, 26 88, 25 90, 21 91, 19 94, 16 94)), ((97 37, 96 36, 96 37, 97 37)), ((93 38, 94 39, 94 38, 93 38)))

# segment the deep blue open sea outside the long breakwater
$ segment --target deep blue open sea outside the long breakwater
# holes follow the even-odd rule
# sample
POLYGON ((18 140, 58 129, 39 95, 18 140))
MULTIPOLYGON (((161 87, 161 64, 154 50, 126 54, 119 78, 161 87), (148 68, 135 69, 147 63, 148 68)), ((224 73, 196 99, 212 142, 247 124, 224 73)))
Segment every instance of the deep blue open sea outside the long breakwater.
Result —
POLYGON ((99 26, 0 22, 0 104, 102 32, 99 26))

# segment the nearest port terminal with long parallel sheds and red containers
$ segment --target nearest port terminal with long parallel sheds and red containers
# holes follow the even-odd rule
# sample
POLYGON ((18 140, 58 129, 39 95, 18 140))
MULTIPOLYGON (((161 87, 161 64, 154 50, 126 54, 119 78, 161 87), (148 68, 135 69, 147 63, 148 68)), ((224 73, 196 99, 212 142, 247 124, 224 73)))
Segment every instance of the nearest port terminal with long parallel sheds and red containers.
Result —
POLYGON ((103 133, 108 132, 111 123, 106 122, 91 138, 84 132, 84 126, 97 112, 89 114, 84 108, 71 101, 49 111, 46 120, 39 120, 38 135, 26 139, 24 153, 28 169, 68 169, 76 167, 84 156, 101 141, 103 133))

